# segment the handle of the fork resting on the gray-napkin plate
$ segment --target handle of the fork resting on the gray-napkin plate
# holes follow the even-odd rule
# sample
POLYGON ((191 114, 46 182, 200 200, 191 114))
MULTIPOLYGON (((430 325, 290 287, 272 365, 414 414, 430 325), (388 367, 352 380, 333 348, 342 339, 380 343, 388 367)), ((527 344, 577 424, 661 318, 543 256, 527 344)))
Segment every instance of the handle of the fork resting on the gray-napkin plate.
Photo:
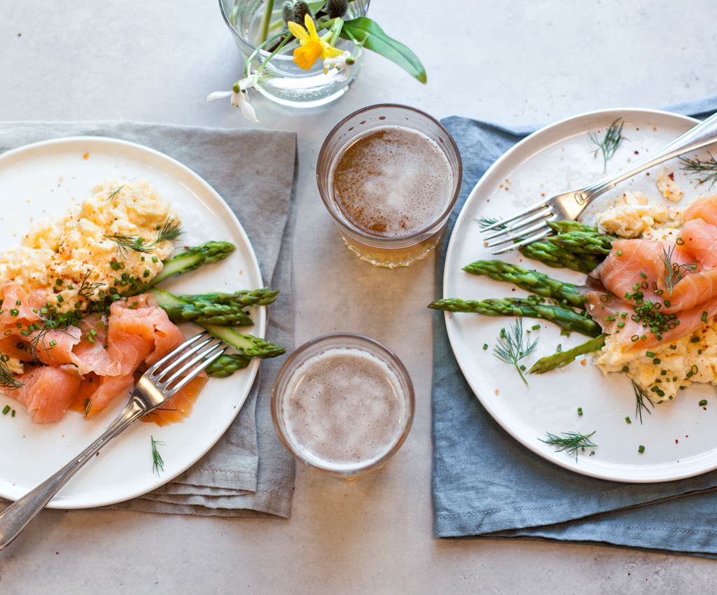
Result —
POLYGON ((72 459, 60 471, 44 480, 34 490, 9 505, 0 513, 0 550, 4 549, 24 530, 52 497, 60 491, 70 477, 75 475, 96 452, 111 439, 121 434, 132 422, 146 413, 146 408, 134 397, 125 406, 122 413, 110 424, 105 432, 85 450, 72 459))

